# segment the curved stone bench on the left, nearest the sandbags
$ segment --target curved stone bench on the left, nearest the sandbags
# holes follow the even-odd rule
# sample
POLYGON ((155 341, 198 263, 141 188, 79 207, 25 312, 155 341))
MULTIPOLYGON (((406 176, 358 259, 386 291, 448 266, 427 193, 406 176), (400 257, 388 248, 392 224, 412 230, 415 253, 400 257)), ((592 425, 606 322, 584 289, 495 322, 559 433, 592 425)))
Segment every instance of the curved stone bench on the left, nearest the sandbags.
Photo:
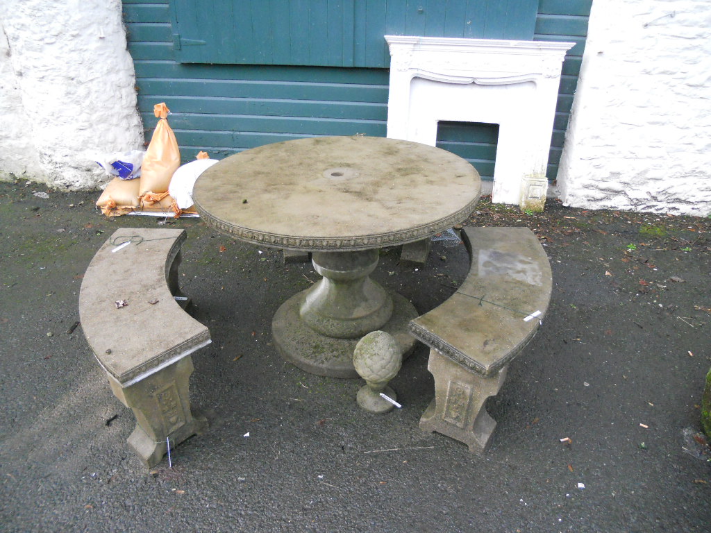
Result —
POLYGON ((191 354, 210 343, 210 332, 178 303, 187 301, 178 289, 185 239, 185 230, 117 230, 92 259, 79 296, 84 335, 136 416, 129 446, 149 468, 166 439, 172 448, 207 425, 188 394, 191 354))

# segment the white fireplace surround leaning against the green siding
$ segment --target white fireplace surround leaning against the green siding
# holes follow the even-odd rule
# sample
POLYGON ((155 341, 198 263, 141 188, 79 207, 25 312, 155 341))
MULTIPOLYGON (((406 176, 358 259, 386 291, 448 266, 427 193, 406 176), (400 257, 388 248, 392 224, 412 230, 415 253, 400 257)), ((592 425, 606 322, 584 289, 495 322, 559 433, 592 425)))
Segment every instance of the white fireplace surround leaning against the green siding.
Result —
POLYGON ((493 201, 540 207, 560 71, 574 43, 385 36, 387 136, 434 146, 437 122, 499 125, 493 201))

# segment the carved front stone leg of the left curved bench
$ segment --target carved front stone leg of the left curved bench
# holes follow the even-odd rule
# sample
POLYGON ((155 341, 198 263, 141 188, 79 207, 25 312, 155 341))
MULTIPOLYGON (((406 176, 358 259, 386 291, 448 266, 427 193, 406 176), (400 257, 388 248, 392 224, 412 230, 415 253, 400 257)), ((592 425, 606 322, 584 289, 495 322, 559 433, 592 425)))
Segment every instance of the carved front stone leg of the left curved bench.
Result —
POLYGON ((167 438, 173 448, 207 429, 205 418, 190 407, 188 380, 192 373, 193 360, 188 355, 129 387, 109 377, 116 397, 134 411, 136 429, 127 442, 148 468, 165 455, 167 438))

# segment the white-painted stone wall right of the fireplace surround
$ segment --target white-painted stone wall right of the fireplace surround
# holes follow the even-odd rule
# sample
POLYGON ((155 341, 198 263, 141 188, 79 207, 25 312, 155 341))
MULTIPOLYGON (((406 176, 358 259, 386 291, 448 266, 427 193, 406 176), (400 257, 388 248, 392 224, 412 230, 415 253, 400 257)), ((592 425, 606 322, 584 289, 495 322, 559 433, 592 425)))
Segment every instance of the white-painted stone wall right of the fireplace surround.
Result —
POLYGON ((557 176, 565 205, 711 212, 711 2, 594 0, 557 176))

